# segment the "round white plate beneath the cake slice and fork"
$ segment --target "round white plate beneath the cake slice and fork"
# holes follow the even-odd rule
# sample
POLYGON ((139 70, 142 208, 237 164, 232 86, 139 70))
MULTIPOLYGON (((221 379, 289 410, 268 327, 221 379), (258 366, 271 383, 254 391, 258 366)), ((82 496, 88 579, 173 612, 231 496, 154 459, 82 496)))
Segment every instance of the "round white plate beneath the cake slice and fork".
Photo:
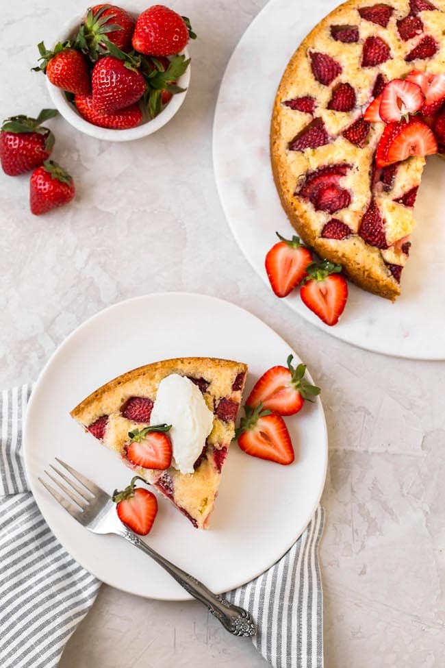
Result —
MULTIPOLYGON (((147 295, 101 311, 55 352, 31 395, 25 465, 44 518, 73 557, 100 580, 133 594, 186 600, 162 569, 118 536, 95 536, 58 506, 38 482, 55 456, 112 493, 131 472, 82 432, 69 411, 120 373, 177 356, 213 356, 249 364, 253 383, 290 347, 267 325, 227 301, 186 293, 147 295)), ((296 360, 298 360, 295 355, 296 360)), ((211 528, 196 530, 160 499, 147 543, 216 592, 251 580, 277 561, 311 519, 325 483, 327 433, 319 400, 286 419, 296 461, 282 467, 249 457, 233 444, 223 470, 211 528)))

